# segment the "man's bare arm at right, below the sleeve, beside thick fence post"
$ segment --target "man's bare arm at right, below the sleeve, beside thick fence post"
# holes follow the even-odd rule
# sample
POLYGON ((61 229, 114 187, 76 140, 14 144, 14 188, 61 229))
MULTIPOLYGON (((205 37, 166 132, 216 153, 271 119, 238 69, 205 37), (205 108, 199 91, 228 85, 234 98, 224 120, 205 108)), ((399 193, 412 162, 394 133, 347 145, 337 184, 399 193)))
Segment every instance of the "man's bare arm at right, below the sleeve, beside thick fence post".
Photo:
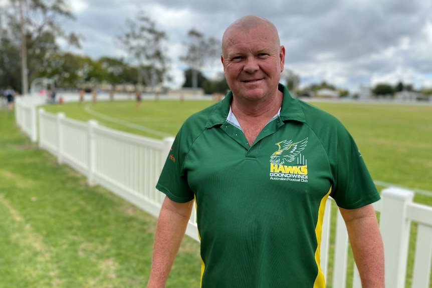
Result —
POLYGON ((363 288, 384 287, 384 248, 372 204, 358 209, 339 208, 360 273, 363 288))

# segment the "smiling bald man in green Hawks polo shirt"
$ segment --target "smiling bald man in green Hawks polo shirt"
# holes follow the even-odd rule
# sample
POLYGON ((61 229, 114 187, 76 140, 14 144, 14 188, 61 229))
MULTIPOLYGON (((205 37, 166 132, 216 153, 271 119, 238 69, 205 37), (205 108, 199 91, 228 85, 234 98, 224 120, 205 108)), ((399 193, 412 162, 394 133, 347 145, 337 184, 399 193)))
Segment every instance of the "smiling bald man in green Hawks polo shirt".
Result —
POLYGON ((324 206, 346 222, 364 288, 384 287, 379 199, 342 124, 279 84, 285 48, 275 26, 247 16, 222 41, 231 92, 185 121, 157 188, 160 211, 149 288, 164 287, 192 207, 201 287, 325 287, 324 206))

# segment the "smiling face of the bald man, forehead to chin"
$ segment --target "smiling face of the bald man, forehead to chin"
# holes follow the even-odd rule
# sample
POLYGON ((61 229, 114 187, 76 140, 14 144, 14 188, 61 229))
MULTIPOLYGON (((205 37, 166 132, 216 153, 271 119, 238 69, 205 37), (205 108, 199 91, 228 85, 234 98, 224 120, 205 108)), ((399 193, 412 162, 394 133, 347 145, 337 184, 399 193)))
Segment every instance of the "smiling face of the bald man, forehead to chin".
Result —
POLYGON ((285 48, 267 26, 232 30, 223 44, 224 75, 234 97, 249 101, 276 96, 285 48))

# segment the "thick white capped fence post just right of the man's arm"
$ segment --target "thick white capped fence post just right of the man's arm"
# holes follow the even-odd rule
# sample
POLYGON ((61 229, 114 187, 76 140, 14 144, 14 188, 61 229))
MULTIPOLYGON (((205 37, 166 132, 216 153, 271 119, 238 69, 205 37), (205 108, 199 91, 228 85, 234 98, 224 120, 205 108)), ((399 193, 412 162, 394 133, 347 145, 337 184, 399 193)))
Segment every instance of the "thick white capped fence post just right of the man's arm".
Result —
POLYGON ((406 261, 411 221, 406 217, 407 204, 414 193, 389 187, 381 191, 382 206, 379 218, 385 257, 385 286, 405 286, 406 261))

